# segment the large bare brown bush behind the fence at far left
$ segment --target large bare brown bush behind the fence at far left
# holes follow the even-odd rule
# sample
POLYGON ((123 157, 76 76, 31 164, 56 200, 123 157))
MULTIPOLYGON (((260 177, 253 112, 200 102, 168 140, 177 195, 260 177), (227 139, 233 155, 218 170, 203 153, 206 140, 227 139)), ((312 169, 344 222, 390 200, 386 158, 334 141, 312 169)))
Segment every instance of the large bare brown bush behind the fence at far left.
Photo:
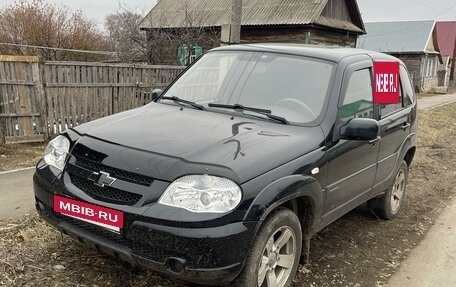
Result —
POLYGON ((81 11, 43 0, 19 0, 0 10, 0 53, 38 55, 43 60, 100 60, 105 56, 64 51, 106 50, 107 41, 81 11), (18 45, 18 46, 14 46, 18 45), (58 49, 36 49, 42 46, 58 49), (101 58, 100 58, 101 57, 101 58))

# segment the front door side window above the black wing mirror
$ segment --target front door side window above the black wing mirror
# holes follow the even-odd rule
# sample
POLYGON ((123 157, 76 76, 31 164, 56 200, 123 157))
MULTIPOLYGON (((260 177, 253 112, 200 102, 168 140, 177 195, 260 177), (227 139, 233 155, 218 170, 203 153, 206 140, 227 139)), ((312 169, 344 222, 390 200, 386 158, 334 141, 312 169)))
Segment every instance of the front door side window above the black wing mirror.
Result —
POLYGON ((373 98, 370 69, 354 72, 339 110, 341 124, 353 118, 374 118, 373 98))

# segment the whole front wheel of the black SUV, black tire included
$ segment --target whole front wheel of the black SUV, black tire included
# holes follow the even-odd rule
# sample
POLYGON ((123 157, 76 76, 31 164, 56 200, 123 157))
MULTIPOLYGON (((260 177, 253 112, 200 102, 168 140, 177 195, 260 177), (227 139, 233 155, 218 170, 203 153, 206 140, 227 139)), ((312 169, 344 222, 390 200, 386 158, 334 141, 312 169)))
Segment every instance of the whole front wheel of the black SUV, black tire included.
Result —
POLYGON ((260 227, 244 269, 231 286, 289 287, 298 269, 301 246, 302 229, 296 214, 285 208, 273 211, 260 227), (281 247, 276 249, 278 245, 281 247), (268 285, 270 280, 276 280, 278 284, 268 285))

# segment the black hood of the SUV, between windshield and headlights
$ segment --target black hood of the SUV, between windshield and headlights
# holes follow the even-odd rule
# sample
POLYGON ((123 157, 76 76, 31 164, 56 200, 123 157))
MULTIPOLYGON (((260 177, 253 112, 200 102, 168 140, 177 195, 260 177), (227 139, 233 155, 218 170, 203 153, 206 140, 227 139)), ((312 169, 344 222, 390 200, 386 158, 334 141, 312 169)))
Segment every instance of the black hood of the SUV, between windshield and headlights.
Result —
POLYGON ((156 103, 83 124, 75 131, 80 139, 73 153, 92 154, 92 160, 103 164, 169 181, 207 173, 243 183, 324 142, 319 127, 156 103))

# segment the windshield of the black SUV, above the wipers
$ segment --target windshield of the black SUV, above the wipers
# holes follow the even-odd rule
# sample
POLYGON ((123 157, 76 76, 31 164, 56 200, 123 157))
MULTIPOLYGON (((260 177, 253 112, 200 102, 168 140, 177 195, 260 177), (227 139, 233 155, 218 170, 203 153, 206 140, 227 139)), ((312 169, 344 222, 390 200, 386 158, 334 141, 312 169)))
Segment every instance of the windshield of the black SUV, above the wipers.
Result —
MULTIPOLYGON (((198 103, 270 110, 292 123, 310 123, 321 113, 334 64, 275 53, 211 52, 166 92, 198 103)), ((249 114, 248 111, 244 113, 249 114)))

